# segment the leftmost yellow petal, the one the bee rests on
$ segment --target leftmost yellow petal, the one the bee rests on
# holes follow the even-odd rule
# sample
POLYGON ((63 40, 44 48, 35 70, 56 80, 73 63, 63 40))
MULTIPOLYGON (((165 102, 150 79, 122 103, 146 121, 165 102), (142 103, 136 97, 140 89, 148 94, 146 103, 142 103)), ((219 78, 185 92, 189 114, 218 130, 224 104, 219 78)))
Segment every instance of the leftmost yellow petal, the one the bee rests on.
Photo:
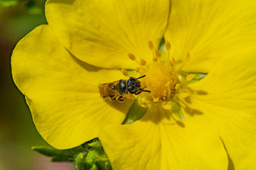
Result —
POLYGON ((97 137, 106 124, 122 124, 131 106, 100 97, 99 83, 120 71, 97 69, 73 57, 41 25, 20 40, 12 55, 13 80, 26 96, 38 132, 56 148, 72 148, 97 137))

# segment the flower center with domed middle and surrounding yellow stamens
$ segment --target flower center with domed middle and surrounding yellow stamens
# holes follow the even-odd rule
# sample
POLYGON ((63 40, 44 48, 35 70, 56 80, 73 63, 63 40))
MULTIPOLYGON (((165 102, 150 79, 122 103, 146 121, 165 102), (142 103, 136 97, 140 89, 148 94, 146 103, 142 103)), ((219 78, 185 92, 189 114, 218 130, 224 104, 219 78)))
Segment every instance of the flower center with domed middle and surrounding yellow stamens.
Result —
MULTIPOLYGON (((167 60, 161 59, 161 53, 154 47, 152 41, 149 41, 148 46, 152 51, 154 61, 152 64, 147 65, 145 60, 138 60, 132 53, 128 54, 128 57, 138 64, 135 69, 140 75, 138 77, 145 75, 140 79, 141 88, 151 92, 140 96, 141 106, 145 108, 161 104, 164 109, 175 113, 184 120, 182 111, 180 111, 179 98, 189 97, 186 84, 195 78, 195 74, 180 74, 180 69, 189 61, 190 55, 188 53, 178 64, 173 57, 170 58, 171 45, 168 41, 165 43, 165 50, 168 53, 167 60)), ((126 70, 122 69, 122 73, 130 77, 126 70)))

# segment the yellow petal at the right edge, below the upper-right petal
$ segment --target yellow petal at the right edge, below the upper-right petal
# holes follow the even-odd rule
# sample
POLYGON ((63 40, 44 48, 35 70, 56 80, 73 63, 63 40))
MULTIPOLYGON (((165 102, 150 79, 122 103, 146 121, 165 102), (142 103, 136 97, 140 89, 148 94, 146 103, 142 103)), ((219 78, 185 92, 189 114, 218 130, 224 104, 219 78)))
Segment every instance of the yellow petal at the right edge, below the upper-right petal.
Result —
POLYGON ((189 105, 220 135, 235 169, 256 169, 256 53, 227 57, 198 83, 189 105))

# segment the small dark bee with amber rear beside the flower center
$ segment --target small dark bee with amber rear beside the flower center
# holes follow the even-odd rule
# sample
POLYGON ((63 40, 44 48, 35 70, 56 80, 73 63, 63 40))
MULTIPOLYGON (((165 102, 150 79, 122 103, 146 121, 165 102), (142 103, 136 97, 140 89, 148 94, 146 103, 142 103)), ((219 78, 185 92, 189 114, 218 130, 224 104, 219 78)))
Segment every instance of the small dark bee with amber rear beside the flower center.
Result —
MULTIPOLYGON (((139 78, 145 76, 140 76, 139 78)), ((138 95, 141 92, 150 92, 149 90, 144 90, 145 87, 141 87, 139 78, 130 77, 127 81, 118 80, 111 83, 99 84, 100 96, 109 97, 113 101, 124 102, 129 94, 138 95)))

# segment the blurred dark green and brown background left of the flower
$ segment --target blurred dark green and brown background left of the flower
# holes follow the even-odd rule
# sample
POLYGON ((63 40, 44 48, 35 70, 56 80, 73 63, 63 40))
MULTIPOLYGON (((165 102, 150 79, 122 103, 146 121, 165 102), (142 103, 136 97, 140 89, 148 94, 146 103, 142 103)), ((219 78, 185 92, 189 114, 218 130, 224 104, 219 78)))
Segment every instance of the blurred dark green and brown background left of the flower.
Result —
POLYGON ((44 4, 45 0, 0 0, 0 170, 73 169, 31 150, 47 143, 36 131, 24 96, 12 80, 12 50, 28 32, 47 23, 44 4))

